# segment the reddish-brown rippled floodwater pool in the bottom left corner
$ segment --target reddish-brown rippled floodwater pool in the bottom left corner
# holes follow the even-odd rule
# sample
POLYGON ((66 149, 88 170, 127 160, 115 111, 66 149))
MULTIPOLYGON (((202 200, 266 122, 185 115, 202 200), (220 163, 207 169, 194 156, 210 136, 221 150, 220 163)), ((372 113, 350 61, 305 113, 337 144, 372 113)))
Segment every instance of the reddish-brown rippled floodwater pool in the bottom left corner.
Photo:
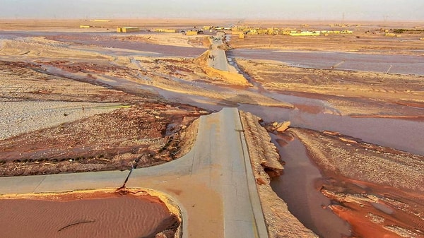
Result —
POLYGON ((0 237, 153 237, 175 222, 151 196, 52 199, 0 199, 0 237))

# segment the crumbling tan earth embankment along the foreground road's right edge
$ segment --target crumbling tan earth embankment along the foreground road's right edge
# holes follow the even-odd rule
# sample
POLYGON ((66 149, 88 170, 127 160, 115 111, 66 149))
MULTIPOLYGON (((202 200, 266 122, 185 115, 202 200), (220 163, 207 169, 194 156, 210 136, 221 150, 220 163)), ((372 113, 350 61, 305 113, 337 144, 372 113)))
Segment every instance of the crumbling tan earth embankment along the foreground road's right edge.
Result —
POLYGON ((318 237, 290 213, 287 204, 269 185, 269 174, 281 174, 283 165, 279 162, 275 145, 270 142, 271 137, 259 124, 259 117, 240 111, 240 118, 269 237, 318 237))

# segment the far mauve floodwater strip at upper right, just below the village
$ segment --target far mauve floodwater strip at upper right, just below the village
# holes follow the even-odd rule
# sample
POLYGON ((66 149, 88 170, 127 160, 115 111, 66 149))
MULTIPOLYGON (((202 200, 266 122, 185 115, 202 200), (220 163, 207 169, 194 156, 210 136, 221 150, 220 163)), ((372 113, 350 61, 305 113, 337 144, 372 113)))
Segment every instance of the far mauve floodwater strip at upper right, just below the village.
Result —
POLYGON ((424 75, 424 56, 399 54, 360 54, 348 52, 276 51, 271 49, 232 49, 228 56, 268 59, 290 66, 424 75))

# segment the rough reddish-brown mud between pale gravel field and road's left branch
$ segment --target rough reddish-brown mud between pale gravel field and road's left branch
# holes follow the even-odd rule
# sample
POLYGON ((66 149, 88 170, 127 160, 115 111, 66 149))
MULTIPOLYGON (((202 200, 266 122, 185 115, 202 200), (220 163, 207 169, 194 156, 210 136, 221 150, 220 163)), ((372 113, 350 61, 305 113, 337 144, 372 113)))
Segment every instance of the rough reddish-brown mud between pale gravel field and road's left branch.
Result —
POLYGON ((174 160, 192 145, 183 135, 201 114, 177 107, 133 105, 6 138, 0 141, 1 176, 124 170, 174 160))

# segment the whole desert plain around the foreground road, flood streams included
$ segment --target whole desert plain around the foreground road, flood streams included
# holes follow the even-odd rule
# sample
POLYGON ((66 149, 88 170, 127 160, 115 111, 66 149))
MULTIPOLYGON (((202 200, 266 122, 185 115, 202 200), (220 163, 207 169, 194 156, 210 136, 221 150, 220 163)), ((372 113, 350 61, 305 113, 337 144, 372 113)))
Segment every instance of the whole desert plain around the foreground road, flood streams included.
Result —
MULTIPOLYGON (((268 131, 248 135, 250 145, 274 144, 252 157, 279 153, 285 167, 262 165, 269 177, 256 178, 272 185, 259 189, 270 237, 424 237, 423 37, 422 23, 0 20, 0 176, 178 160, 196 119, 238 107, 252 130, 268 131), (123 26, 140 31, 116 32, 123 26), (225 29, 179 32, 204 26, 225 29), (352 33, 240 37, 235 26, 352 33), (216 31, 230 72, 208 64, 216 31), (296 174, 300 153, 317 177, 296 174)), ((173 237, 170 223, 149 235, 173 237)))

